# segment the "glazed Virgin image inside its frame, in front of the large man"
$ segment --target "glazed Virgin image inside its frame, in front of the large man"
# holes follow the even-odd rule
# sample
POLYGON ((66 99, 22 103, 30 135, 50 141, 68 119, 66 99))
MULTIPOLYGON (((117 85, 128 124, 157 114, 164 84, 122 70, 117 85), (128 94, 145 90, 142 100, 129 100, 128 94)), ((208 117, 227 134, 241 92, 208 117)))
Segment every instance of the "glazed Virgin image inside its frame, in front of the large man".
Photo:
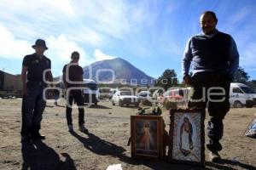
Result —
POLYGON ((201 162, 201 114, 174 114, 172 159, 201 162))

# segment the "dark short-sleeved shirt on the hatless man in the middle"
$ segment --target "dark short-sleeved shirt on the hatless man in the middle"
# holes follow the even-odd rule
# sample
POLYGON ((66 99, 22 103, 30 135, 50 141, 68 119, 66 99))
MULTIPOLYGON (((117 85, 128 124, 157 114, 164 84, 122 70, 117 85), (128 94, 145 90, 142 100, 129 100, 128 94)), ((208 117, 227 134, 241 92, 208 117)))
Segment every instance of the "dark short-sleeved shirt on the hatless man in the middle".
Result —
MULTIPOLYGON (((62 72, 63 74, 66 74, 66 82, 68 80, 67 77, 70 81, 79 82, 79 78, 84 74, 83 68, 81 66, 73 64, 64 65, 62 72)), ((75 87, 79 86, 79 84, 67 82, 67 86, 75 87)))

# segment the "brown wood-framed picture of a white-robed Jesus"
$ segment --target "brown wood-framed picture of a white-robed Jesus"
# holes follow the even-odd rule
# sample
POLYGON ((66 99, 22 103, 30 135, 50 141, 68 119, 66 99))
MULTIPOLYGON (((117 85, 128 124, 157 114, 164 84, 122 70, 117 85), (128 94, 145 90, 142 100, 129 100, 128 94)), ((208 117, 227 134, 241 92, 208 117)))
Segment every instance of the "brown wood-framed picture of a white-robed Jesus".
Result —
POLYGON ((162 136, 162 116, 131 116, 131 157, 159 159, 162 136))

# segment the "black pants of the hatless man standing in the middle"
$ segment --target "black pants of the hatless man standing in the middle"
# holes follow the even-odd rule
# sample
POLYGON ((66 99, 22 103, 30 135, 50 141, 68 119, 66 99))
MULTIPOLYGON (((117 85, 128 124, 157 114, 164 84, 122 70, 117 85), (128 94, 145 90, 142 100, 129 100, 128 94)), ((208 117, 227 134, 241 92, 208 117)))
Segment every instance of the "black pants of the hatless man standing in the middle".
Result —
POLYGON ((67 106, 66 106, 66 117, 67 117, 67 125, 72 125, 72 105, 73 100, 79 106, 79 126, 84 124, 84 99, 82 96, 81 90, 71 90, 69 94, 67 94, 67 106))

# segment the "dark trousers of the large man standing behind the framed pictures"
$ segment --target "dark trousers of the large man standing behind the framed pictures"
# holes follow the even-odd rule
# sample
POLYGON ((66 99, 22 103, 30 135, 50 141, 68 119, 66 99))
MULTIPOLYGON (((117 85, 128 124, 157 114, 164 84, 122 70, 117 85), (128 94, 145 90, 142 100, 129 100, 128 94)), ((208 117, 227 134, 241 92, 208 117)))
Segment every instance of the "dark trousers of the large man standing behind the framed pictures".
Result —
POLYGON ((191 86, 189 108, 207 108, 211 117, 207 124, 207 148, 222 150, 219 140, 223 137, 224 116, 230 111, 230 77, 219 72, 196 73, 191 86))

